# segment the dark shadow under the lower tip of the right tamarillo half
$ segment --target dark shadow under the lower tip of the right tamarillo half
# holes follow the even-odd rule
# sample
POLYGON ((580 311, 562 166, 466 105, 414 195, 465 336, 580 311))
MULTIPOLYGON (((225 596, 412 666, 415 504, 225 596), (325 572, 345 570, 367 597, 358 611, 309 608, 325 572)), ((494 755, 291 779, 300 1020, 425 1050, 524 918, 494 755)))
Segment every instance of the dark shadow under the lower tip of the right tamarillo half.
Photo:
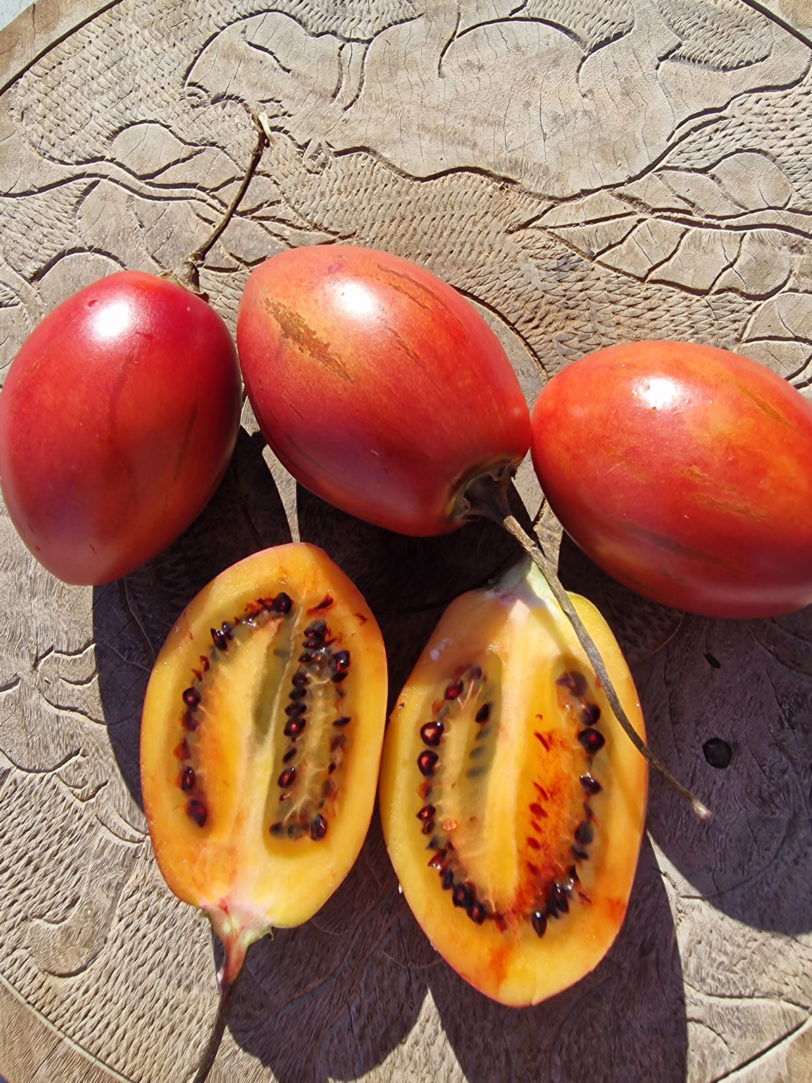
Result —
MULTIPOLYGON (((573 943, 573 956, 577 951, 573 943)), ((682 969, 665 887, 645 841, 615 943, 595 969, 569 989, 535 1007, 511 1008, 476 993, 440 960, 427 976, 443 1031, 468 1083, 684 1083, 682 969)))

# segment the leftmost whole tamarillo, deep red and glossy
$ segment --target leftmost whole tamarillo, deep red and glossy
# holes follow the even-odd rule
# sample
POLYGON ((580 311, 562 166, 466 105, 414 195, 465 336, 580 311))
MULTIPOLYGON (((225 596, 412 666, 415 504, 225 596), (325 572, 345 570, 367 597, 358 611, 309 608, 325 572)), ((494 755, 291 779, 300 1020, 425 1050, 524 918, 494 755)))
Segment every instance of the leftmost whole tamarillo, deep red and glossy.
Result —
POLYGON ((234 343, 204 300, 122 271, 69 297, 0 392, 0 484, 37 559, 99 584, 149 560, 202 510, 239 428, 234 343))

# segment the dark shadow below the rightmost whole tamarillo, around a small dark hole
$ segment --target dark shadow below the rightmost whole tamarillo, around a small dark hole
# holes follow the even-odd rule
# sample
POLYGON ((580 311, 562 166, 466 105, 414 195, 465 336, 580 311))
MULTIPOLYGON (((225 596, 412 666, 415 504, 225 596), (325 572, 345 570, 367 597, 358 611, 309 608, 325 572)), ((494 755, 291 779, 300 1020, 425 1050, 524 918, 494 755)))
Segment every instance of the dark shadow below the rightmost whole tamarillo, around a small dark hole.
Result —
POLYGON ((650 745, 712 810, 698 820, 652 774, 647 828, 687 882, 685 904, 717 912, 706 918, 709 935, 724 936, 725 916, 787 937, 809 932, 812 606, 760 621, 682 613, 615 583, 567 539, 560 572, 611 624, 650 745), (729 762, 706 755, 709 740, 723 742, 729 762))

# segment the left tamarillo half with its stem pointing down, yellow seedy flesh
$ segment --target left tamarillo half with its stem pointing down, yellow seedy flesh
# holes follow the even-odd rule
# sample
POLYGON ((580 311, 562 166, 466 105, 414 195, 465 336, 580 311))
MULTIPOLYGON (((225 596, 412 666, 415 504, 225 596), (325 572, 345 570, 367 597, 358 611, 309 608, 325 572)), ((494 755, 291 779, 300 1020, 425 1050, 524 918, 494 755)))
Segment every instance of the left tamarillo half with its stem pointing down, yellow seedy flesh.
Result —
POLYGON ((306 922, 353 865, 369 826, 387 662, 357 588, 315 546, 265 549, 183 611, 149 678, 141 782, 160 871, 225 949, 225 1025, 248 947, 306 922))

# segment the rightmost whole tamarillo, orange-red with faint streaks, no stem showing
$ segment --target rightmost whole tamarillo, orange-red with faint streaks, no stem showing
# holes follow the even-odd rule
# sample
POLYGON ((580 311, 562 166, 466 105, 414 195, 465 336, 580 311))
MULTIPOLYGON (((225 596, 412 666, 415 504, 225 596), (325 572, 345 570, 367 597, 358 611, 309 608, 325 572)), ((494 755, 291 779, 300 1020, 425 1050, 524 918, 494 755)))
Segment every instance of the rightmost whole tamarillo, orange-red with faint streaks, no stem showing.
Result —
POLYGON ((617 345, 556 374, 532 420, 553 511, 626 586, 707 616, 812 603, 812 405, 770 369, 617 345))

